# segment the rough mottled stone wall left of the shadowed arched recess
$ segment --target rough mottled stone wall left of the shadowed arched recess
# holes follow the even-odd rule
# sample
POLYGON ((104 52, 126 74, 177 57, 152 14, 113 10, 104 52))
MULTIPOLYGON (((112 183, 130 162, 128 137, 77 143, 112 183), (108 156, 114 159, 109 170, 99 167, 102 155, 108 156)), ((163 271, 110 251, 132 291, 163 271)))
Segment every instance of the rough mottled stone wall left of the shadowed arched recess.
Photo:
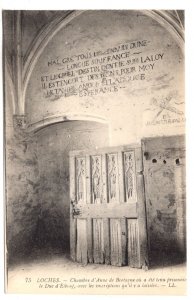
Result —
POLYGON ((36 138, 20 128, 20 118, 13 118, 10 91, 10 86, 6 84, 6 248, 11 262, 31 254, 40 202, 37 197, 39 172, 36 138))

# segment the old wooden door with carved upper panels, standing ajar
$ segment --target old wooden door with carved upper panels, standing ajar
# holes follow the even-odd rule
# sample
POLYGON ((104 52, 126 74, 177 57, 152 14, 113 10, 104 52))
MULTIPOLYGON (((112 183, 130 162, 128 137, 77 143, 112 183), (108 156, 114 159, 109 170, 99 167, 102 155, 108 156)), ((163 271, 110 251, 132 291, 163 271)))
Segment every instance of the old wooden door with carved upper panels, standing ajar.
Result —
POLYGON ((74 261, 147 265, 139 146, 70 152, 70 249, 74 261))

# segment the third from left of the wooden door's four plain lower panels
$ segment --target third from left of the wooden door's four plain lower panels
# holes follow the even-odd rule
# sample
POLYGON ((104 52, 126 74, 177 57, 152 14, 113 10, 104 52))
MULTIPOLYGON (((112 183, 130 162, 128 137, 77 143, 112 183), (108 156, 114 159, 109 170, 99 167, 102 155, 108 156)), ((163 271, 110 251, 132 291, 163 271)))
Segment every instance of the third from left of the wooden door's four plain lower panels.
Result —
POLYGON ((122 266, 121 223, 120 219, 110 219, 111 264, 122 266))

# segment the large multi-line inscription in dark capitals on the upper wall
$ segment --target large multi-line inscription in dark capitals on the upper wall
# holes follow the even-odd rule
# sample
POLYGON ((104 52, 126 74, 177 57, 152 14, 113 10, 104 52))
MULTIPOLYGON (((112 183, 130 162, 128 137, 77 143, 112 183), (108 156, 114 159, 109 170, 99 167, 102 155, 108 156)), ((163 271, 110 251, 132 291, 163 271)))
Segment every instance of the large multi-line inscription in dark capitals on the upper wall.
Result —
POLYGON ((164 59, 162 52, 143 53, 149 44, 148 40, 138 40, 105 51, 51 59, 48 74, 40 78, 43 95, 50 100, 73 95, 92 97, 144 81, 164 59))

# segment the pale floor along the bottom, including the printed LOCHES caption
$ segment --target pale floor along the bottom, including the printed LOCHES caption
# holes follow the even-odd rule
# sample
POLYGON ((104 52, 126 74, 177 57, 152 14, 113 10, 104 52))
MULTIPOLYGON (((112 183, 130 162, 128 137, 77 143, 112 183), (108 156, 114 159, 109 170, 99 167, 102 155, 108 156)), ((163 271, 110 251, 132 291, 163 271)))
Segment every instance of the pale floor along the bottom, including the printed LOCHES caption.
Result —
POLYGON ((128 266, 82 265, 68 255, 50 253, 18 261, 8 268, 8 293, 166 294, 186 293, 186 265, 153 265, 147 271, 128 266))

